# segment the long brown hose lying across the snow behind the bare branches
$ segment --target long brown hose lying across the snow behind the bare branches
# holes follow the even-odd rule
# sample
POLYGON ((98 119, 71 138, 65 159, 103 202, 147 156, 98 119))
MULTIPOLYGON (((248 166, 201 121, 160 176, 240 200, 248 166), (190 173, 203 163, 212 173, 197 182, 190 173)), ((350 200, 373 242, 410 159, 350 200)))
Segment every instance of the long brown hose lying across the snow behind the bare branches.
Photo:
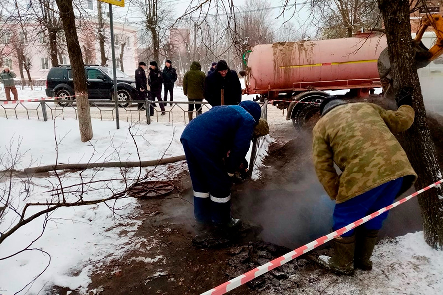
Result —
POLYGON ((49 172, 54 170, 83 170, 89 168, 109 168, 109 167, 148 167, 162 164, 175 163, 186 160, 184 155, 177 157, 161 158, 150 161, 133 161, 133 162, 104 162, 104 163, 78 163, 78 164, 58 164, 39 167, 30 167, 23 170, 25 173, 49 172))

